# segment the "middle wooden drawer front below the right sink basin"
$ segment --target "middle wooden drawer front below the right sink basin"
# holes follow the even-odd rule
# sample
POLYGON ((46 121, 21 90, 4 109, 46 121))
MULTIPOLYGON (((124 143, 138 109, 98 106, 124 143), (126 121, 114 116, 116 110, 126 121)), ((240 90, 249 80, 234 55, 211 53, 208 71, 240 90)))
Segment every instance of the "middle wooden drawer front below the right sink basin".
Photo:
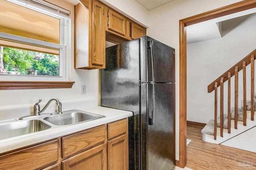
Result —
POLYGON ((62 156, 80 152, 103 143, 106 140, 106 126, 98 126, 79 133, 62 137, 62 156))

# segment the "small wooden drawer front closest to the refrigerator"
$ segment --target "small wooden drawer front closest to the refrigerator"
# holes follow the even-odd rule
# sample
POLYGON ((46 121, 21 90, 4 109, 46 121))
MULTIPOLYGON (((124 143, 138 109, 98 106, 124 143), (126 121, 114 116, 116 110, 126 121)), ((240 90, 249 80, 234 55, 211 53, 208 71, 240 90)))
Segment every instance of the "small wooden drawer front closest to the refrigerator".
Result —
POLYGON ((108 139, 118 137, 127 132, 127 119, 108 123, 108 139))

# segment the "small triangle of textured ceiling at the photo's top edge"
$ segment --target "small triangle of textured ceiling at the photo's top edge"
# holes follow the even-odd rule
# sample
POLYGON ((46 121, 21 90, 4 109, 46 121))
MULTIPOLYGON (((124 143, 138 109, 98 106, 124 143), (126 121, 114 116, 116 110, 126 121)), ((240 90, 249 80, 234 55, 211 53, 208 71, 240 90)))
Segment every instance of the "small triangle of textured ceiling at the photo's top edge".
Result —
POLYGON ((172 2, 174 0, 135 0, 138 2, 141 6, 146 8, 147 10, 153 10, 159 6, 162 6, 164 4, 167 4, 169 2, 172 2))

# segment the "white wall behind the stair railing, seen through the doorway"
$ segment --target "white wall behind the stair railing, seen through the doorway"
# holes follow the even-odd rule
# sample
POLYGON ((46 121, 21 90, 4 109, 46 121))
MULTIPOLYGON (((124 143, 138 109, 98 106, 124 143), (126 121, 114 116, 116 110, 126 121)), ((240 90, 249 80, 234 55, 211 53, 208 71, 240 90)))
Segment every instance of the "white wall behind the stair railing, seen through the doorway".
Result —
MULTIPOLYGON (((252 14, 224 37, 187 45, 187 120, 208 123, 214 119, 214 92, 207 86, 256 49, 256 14, 252 14)), ((226 25, 226 24, 225 24, 226 25)), ((247 100, 250 100, 250 65, 246 67, 247 100)), ((243 100, 242 71, 238 74, 238 107, 243 100)), ((218 93, 220 89, 218 88, 218 93)), ((219 93, 220 94, 220 93, 219 93)), ((218 94, 218 96, 220 96, 218 94)), ((218 108, 220 108, 218 101, 218 108)), ((234 107, 234 77, 231 79, 234 107)), ((220 109, 218 109, 219 112, 220 109)), ((224 114, 227 114, 227 82, 224 83, 224 114)))

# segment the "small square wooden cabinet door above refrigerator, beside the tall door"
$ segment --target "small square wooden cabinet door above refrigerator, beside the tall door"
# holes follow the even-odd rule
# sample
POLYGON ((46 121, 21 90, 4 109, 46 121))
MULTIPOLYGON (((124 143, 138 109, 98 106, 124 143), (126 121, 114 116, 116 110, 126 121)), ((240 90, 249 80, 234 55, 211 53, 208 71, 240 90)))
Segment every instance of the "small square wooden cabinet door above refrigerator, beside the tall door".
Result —
POLYGON ((120 14, 109 10, 109 16, 108 16, 108 29, 111 29, 113 31, 116 31, 122 35, 125 35, 126 33, 126 19, 124 16, 121 16, 120 14))

